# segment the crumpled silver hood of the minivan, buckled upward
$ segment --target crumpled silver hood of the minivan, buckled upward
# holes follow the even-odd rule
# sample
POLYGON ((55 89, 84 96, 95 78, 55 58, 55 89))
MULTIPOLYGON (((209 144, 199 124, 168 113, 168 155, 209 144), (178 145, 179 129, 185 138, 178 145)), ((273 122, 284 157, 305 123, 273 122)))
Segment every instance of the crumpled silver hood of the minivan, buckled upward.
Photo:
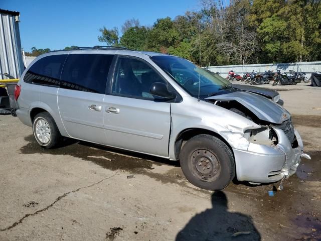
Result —
POLYGON ((258 94, 236 91, 228 94, 215 95, 206 99, 235 100, 252 111, 262 121, 281 124, 291 117, 290 113, 273 101, 258 94))

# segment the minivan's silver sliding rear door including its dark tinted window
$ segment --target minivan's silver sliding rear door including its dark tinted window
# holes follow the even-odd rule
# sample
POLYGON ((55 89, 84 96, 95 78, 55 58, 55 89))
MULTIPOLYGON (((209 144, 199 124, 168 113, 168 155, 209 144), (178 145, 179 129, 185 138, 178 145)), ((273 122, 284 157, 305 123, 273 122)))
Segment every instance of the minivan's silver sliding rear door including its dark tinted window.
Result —
POLYGON ((71 137, 105 143, 102 106, 113 57, 82 53, 67 57, 60 79, 58 106, 71 137))

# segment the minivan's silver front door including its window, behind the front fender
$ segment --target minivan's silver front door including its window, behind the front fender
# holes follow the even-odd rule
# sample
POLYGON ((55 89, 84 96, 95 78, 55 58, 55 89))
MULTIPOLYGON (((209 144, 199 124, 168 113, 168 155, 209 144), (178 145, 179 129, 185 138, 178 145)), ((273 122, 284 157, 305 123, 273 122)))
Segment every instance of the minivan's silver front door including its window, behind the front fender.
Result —
POLYGON ((155 102, 149 89, 165 82, 148 63, 120 56, 111 93, 103 103, 107 145, 168 157, 171 128, 169 102, 155 102))

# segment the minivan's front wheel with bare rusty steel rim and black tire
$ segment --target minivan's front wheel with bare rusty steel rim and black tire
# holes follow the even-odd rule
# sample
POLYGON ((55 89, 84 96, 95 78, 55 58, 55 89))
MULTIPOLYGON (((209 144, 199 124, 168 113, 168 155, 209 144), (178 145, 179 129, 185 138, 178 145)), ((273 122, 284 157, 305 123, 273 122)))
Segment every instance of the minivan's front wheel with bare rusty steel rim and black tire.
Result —
POLYGON ((210 135, 198 135, 187 141, 180 153, 180 163, 187 180, 207 190, 221 190, 235 176, 232 151, 210 135))

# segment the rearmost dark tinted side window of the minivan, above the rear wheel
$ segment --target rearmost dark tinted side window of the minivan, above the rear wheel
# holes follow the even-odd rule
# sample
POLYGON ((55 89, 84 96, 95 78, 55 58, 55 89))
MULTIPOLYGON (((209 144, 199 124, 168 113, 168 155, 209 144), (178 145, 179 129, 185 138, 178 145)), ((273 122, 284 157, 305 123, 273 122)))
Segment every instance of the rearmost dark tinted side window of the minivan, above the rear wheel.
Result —
POLYGON ((64 55, 50 55, 34 63, 25 74, 27 83, 59 86, 62 67, 67 58, 64 55))

